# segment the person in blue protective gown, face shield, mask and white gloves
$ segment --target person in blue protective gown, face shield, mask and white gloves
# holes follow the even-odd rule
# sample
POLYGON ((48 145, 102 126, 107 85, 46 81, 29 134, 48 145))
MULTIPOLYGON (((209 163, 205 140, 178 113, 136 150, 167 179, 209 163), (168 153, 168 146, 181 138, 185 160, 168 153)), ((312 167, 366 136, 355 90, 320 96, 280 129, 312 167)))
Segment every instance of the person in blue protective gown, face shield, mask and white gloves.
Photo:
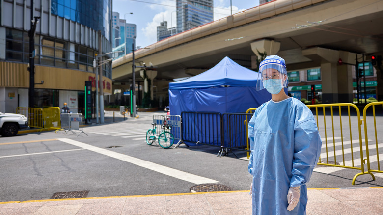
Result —
POLYGON ((257 90, 266 89, 272 99, 248 123, 253 215, 305 215, 306 184, 322 146, 318 128, 310 109, 283 90, 288 85, 284 59, 267 56, 258 74, 257 90))

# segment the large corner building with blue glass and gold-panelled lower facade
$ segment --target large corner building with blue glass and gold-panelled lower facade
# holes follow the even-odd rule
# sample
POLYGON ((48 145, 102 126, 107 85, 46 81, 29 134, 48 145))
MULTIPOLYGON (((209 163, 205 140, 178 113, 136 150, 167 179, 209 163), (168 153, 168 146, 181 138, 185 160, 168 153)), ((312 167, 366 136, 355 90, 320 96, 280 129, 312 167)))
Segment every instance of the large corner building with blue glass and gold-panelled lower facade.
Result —
MULTIPOLYGON (((92 81, 95 96, 95 54, 112 51, 111 8, 112 0, 1 0, 0 111, 12 113, 30 103, 62 107, 66 102, 72 112, 82 112, 85 81, 92 81), (40 17, 31 35, 32 52, 31 11, 40 17), (29 95, 31 56, 35 85, 29 95)), ((111 62, 102 65, 102 74, 103 93, 111 95, 111 62)))

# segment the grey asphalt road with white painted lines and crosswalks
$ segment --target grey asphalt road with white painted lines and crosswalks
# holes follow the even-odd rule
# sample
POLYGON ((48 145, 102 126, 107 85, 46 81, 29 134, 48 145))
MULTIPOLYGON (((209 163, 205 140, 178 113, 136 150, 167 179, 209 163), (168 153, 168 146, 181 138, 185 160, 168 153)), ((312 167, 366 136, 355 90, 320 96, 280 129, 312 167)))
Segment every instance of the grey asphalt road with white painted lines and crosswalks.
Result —
MULTIPOLYGON (((153 113, 125 121, 115 114, 116 122, 107 112, 107 123, 85 127, 79 136, 79 131, 50 131, 0 137, 0 202, 49 199, 57 192, 83 190, 89 191, 87 197, 185 193, 196 184, 214 182, 232 190, 249 189, 248 161, 231 153, 219 158, 219 148, 206 145, 181 144, 176 149, 147 145, 145 131, 151 128, 153 113)), ((246 157, 244 152, 235 153, 246 157)), ((358 153, 360 158, 360 152, 353 154, 357 158, 358 153)), ((350 159, 346 154, 345 161, 350 159)), ((360 170, 319 165, 316 169, 320 171, 313 172, 309 188, 383 186, 380 174, 375 181, 370 175, 359 176, 353 186, 360 170)))

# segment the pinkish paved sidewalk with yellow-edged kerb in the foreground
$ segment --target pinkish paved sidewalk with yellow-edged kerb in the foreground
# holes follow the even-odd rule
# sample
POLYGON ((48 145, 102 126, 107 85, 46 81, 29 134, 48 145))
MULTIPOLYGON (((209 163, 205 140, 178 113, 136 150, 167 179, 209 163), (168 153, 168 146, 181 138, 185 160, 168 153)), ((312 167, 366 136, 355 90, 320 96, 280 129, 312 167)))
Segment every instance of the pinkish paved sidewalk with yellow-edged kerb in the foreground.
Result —
MULTIPOLYGON (((251 215, 249 191, 0 202, 1 215, 251 215)), ((307 215, 383 215, 383 187, 308 190, 307 215)))

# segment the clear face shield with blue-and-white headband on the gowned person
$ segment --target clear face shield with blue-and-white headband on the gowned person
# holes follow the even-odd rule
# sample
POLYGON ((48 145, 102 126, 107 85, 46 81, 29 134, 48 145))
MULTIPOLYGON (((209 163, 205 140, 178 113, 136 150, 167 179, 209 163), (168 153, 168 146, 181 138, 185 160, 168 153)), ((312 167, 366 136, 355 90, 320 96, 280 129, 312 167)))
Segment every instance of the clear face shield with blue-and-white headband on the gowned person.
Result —
POLYGON ((285 61, 277 55, 267 56, 259 66, 256 90, 278 94, 288 83, 285 61))

